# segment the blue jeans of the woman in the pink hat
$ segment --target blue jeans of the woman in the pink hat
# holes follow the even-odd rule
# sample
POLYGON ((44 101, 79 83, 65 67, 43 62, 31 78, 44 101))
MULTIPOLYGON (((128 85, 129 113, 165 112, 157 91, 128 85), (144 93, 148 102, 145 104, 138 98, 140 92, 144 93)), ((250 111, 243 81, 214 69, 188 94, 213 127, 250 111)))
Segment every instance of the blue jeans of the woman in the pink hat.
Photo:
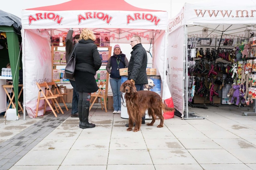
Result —
POLYGON ((113 108, 115 111, 121 111, 121 79, 109 79, 113 93, 113 108))

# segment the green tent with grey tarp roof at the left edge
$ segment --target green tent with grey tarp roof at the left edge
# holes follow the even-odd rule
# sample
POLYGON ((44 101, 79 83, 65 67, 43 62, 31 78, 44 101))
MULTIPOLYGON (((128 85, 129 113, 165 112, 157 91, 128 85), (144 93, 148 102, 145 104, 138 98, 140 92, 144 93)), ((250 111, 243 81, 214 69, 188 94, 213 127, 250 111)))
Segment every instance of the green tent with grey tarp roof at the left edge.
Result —
MULTIPOLYGON (((19 44, 19 38, 21 39, 20 30, 21 30, 21 19, 10 13, 0 10, 0 32, 6 33, 6 39, 8 44, 8 54, 9 54, 12 79, 13 79, 13 88, 14 88, 14 94, 15 94, 16 100, 18 99, 18 95, 19 95, 18 94, 19 70, 20 70, 20 59, 22 56, 20 51, 20 44, 19 44)), ((4 67, 6 67, 6 64, 4 67)), ((18 106, 18 104, 16 104, 16 106, 18 106)), ((16 107, 16 111, 18 115, 18 107, 16 107)))

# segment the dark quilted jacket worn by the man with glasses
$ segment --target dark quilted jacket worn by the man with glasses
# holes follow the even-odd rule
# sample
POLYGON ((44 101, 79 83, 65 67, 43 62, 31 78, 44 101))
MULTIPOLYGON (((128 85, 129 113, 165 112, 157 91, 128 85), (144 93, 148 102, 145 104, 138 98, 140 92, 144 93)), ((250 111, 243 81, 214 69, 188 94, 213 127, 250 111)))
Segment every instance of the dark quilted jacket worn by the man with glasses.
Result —
POLYGON ((142 44, 135 45, 131 52, 131 59, 128 66, 128 80, 133 79, 135 84, 148 84, 146 73, 148 55, 142 44))

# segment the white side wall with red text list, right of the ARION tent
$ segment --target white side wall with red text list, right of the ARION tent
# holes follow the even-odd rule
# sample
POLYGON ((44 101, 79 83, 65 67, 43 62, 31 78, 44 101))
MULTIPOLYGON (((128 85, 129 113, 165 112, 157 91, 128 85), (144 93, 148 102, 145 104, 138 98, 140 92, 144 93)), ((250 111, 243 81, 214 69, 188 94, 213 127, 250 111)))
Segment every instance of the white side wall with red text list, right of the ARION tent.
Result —
POLYGON ((183 92, 184 26, 169 34, 167 44, 166 81, 172 95, 174 108, 184 111, 183 92))

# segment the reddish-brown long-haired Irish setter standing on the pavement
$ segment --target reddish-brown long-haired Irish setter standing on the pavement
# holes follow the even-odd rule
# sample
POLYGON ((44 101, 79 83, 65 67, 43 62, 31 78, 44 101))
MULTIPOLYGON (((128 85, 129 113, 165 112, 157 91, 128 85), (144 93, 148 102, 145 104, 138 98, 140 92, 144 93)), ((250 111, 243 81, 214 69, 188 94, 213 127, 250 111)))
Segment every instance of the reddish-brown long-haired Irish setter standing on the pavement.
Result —
POLYGON ((120 91, 125 93, 126 107, 129 115, 129 128, 127 131, 133 129, 133 122, 135 122, 134 132, 140 130, 142 116, 148 109, 148 115, 152 117, 152 122, 147 123, 148 126, 153 126, 156 118, 159 117, 160 125, 163 127, 162 111, 174 111, 174 108, 168 108, 163 104, 161 97, 154 91, 136 91, 135 84, 130 80, 126 80, 120 87, 120 91))

